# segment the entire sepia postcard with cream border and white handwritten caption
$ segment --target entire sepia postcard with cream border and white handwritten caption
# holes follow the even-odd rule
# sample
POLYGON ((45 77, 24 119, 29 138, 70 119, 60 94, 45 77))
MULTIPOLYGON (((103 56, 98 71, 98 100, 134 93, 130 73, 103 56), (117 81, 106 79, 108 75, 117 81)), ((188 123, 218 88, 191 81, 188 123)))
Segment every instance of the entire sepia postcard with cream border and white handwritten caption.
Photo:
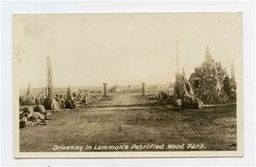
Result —
POLYGON ((242 12, 12 15, 14 157, 243 157, 242 12))

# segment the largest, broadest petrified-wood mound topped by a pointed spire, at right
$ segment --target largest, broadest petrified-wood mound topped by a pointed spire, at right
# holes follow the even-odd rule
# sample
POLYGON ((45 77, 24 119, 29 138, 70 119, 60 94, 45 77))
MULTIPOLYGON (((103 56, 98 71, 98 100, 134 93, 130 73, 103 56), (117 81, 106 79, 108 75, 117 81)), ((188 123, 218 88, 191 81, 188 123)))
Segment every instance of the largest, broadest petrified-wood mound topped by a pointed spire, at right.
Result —
POLYGON ((215 62, 209 48, 206 49, 205 61, 191 74, 189 81, 198 82, 198 88, 194 86, 196 96, 204 103, 222 103, 229 99, 223 91, 226 70, 222 68, 221 62, 215 62))

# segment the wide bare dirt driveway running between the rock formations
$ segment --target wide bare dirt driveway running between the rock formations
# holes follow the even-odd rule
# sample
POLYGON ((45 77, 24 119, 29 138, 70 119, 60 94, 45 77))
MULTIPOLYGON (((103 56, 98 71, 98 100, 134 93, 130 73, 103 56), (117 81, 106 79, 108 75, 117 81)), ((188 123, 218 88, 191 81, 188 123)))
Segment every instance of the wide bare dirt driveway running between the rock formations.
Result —
POLYGON ((20 130, 21 152, 54 145, 200 144, 208 151, 237 149, 236 105, 168 110, 140 94, 109 94, 96 104, 52 114, 46 126, 20 130))

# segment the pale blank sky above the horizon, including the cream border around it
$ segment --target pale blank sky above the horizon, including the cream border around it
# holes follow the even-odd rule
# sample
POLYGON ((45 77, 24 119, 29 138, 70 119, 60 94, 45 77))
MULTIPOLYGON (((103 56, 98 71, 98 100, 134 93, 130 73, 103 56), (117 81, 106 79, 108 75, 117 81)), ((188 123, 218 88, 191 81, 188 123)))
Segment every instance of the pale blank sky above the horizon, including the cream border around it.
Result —
POLYGON ((230 73, 242 56, 241 13, 17 14, 13 16, 15 77, 20 88, 46 86, 52 61, 54 86, 101 86, 175 81, 189 76, 209 45, 230 73), (17 46, 19 49, 17 49, 17 46))

